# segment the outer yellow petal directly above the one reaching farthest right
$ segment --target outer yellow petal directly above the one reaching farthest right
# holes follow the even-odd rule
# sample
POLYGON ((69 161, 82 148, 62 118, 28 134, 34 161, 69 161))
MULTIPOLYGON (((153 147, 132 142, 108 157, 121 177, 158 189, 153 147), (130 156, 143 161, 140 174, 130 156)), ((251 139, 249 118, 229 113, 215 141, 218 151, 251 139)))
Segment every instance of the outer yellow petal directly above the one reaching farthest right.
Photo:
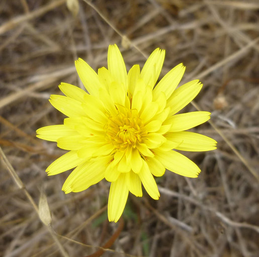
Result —
POLYGON ((192 111, 188 113, 176 114, 168 118, 165 122, 171 123, 169 132, 189 130, 210 119, 208 111, 192 111))

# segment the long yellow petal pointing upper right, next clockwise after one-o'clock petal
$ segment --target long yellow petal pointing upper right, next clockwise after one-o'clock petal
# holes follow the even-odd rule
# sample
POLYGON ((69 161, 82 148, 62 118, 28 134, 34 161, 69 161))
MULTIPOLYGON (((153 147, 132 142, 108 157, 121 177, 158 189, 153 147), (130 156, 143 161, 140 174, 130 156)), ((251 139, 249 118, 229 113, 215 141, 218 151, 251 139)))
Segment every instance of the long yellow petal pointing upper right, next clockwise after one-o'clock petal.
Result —
POLYGON ((165 93, 166 99, 170 97, 176 89, 185 73, 185 66, 180 63, 172 68, 156 85, 153 90, 153 97, 156 99, 161 92, 165 93))

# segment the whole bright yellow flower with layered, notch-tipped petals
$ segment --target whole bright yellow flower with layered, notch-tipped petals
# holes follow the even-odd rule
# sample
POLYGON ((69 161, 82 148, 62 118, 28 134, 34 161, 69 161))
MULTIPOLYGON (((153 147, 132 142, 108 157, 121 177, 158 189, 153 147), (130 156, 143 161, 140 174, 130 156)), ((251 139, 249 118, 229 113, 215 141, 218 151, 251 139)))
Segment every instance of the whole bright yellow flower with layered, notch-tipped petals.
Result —
POLYGON ((65 193, 85 190, 104 178, 111 182, 110 221, 120 218, 129 192, 142 196, 141 184, 158 199, 153 176, 162 176, 165 169, 198 176, 198 166, 175 150, 216 149, 215 140, 186 132, 207 121, 209 112, 176 114, 199 93, 199 80, 176 89, 185 72, 185 66, 179 64, 155 86, 164 54, 157 48, 141 72, 134 65, 128 73, 116 45, 109 46, 108 69, 102 67, 98 74, 78 59, 75 67, 89 93, 61 83, 59 88, 66 96, 51 95, 50 103, 68 117, 62 125, 37 130, 38 138, 57 142, 59 148, 69 151, 46 170, 48 175, 56 175, 76 167, 62 187, 65 193))

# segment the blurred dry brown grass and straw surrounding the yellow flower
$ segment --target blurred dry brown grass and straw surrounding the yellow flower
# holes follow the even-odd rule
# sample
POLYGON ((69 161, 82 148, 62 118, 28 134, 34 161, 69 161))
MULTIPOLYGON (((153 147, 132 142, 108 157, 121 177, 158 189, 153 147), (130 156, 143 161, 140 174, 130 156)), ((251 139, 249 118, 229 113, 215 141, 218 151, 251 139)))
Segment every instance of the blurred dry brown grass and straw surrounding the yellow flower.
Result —
POLYGON ((256 0, 1 0, 0 255, 259 256, 258 22, 256 0), (202 170, 197 179, 166 171, 158 201, 130 195, 123 218, 109 223, 110 183, 65 195, 70 172, 45 173, 65 152, 35 131, 63 122, 48 98, 60 82, 82 86, 74 60, 107 67, 114 43, 128 69, 160 47, 161 76, 183 62, 181 84, 203 82, 184 111, 212 113, 193 131, 218 149, 185 153, 202 170), (50 225, 37 214, 40 199, 50 225))

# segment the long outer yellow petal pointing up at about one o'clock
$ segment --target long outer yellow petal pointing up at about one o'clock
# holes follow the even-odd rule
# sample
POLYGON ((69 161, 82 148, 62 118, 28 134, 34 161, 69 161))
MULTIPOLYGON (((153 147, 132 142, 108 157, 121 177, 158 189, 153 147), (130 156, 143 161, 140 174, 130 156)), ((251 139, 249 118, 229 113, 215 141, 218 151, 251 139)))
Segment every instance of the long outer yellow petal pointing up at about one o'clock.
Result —
POLYGON ((145 85, 150 88, 154 87, 159 77, 163 66, 164 55, 164 50, 159 48, 155 49, 148 57, 141 70, 140 77, 144 80, 145 85))

